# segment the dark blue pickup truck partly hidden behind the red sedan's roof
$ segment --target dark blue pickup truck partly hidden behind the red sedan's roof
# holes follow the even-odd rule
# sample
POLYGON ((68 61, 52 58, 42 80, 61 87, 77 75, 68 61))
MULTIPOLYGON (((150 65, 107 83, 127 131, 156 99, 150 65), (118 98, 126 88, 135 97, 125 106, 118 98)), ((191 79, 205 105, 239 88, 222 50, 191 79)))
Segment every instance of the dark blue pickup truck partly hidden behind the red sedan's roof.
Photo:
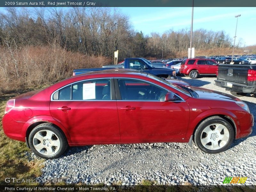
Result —
MULTIPOLYGON (((113 68, 118 68, 118 65, 112 65, 113 68)), ((136 69, 141 70, 146 73, 150 73, 152 75, 158 76, 158 77, 171 77, 173 79, 177 79, 176 72, 174 69, 171 68, 156 68, 152 66, 152 63, 144 58, 126 58, 124 60, 124 65, 122 68, 127 69, 136 69)), ((73 71, 73 76, 80 75, 83 73, 93 72, 93 71, 102 71, 110 68, 85 68, 85 69, 75 69, 73 71)))

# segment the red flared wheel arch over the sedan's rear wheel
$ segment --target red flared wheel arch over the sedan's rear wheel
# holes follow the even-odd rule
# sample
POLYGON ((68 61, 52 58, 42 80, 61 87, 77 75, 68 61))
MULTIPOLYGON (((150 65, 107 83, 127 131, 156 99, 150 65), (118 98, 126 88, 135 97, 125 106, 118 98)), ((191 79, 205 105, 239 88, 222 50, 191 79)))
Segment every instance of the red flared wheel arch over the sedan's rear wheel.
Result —
POLYGON ((26 135, 26 132, 28 130, 28 127, 36 122, 49 122, 49 123, 52 123, 52 124, 55 124, 56 126, 58 126, 65 134, 67 140, 68 140, 68 143, 71 142, 70 140, 70 136, 66 130, 66 128, 60 124, 58 121, 56 121, 52 116, 35 116, 31 119, 29 119, 22 127, 22 133, 23 135, 26 135))

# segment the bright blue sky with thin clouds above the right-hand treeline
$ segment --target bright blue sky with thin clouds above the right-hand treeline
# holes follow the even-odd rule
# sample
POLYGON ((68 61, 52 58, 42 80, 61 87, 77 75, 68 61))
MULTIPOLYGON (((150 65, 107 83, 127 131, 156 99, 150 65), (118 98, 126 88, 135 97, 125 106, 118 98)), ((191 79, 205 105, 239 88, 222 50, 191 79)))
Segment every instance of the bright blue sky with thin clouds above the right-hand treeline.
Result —
MULTIPOLYGON (((169 29, 178 31, 191 26, 192 7, 119 7, 130 18, 134 30, 144 35, 169 29)), ((223 30, 240 46, 256 45, 256 7, 194 7, 193 31, 223 30), (238 17, 236 30, 236 15, 238 17)))

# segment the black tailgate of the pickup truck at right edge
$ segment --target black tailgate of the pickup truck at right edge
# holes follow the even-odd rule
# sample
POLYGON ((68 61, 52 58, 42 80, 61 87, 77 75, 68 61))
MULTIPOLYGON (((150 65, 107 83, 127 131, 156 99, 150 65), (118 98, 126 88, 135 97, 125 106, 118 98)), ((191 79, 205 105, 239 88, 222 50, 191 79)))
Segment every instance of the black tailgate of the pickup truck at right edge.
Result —
POLYGON ((248 70, 247 65, 220 65, 218 79, 235 83, 247 84, 248 70))

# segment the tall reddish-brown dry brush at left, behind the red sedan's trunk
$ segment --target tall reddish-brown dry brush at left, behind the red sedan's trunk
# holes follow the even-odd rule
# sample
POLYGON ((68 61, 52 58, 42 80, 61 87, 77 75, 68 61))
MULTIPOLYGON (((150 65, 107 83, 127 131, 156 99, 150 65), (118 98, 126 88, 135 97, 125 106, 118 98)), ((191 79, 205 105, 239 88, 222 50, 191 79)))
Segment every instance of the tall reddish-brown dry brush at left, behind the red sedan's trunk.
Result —
POLYGON ((72 76, 74 69, 102 67, 111 62, 102 56, 66 51, 58 44, 13 50, 0 47, 0 60, 0 94, 58 82, 72 76))

